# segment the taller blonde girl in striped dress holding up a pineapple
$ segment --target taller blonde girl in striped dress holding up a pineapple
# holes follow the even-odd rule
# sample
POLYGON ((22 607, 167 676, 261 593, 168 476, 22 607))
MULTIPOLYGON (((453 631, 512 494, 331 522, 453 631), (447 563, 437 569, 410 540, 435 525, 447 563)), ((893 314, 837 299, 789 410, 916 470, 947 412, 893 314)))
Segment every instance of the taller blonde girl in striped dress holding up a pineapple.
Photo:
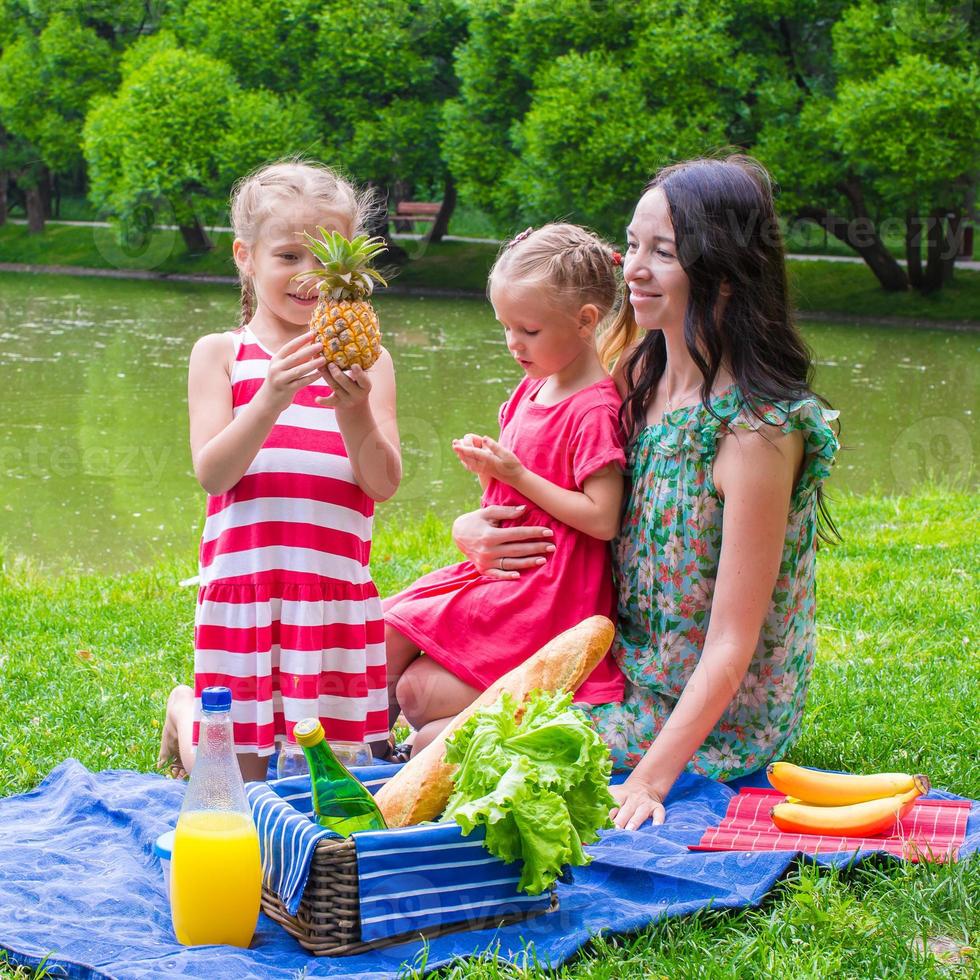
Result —
POLYGON ((390 354, 326 365, 309 330, 317 267, 303 232, 350 238, 366 198, 325 167, 281 162, 232 192, 237 330, 191 353, 194 473, 208 492, 194 689, 167 702, 161 766, 190 771, 201 691, 231 688, 239 764, 265 776, 276 743, 316 716, 327 737, 388 736, 384 618, 368 559, 375 501, 401 478, 390 354))

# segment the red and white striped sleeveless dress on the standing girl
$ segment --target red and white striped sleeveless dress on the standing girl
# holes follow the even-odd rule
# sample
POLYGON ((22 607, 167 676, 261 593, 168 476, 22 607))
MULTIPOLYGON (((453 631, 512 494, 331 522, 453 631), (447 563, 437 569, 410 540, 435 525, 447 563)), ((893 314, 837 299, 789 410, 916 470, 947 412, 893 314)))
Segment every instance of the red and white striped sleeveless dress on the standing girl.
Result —
MULTIPOLYGON (((237 415, 269 370, 232 333, 237 415)), ((384 617, 368 559, 374 501, 357 485, 317 382, 297 392, 245 475, 208 497, 194 629, 194 686, 231 688, 235 747, 271 755, 316 716, 327 738, 388 735, 384 617)), ((198 724, 194 725, 197 743, 198 724)))

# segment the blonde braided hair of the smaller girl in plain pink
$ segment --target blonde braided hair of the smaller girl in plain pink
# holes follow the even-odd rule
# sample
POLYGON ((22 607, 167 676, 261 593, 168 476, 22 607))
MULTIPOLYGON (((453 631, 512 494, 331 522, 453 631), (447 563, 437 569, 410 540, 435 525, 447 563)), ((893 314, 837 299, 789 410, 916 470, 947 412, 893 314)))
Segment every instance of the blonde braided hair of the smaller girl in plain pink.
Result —
POLYGON ((512 283, 541 284, 569 305, 595 305, 601 318, 612 312, 619 295, 618 253, 579 225, 555 222, 528 228, 497 254, 487 282, 506 277, 512 283))

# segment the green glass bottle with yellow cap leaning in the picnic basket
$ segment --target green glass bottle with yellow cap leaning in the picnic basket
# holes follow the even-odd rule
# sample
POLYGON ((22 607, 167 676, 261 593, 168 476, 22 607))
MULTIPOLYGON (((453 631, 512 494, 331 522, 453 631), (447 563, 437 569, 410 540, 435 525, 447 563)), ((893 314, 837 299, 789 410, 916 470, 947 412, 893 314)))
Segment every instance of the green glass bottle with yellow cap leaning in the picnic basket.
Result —
POLYGON ((319 720, 304 718, 293 735, 310 767, 317 823, 341 837, 350 837, 358 830, 387 830, 374 797, 333 754, 319 720))

